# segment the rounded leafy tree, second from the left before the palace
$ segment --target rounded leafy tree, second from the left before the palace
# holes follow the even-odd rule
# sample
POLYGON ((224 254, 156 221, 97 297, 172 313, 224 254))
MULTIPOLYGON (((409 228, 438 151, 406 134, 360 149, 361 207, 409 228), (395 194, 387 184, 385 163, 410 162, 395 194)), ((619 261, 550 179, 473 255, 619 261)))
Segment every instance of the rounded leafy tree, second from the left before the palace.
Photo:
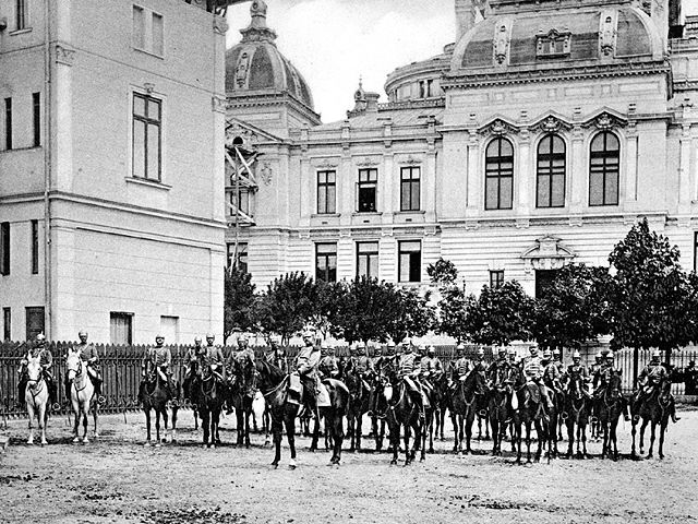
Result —
POLYGON ((260 327, 281 336, 287 344, 293 333, 302 331, 312 319, 316 287, 304 273, 287 273, 267 286, 256 305, 260 327))

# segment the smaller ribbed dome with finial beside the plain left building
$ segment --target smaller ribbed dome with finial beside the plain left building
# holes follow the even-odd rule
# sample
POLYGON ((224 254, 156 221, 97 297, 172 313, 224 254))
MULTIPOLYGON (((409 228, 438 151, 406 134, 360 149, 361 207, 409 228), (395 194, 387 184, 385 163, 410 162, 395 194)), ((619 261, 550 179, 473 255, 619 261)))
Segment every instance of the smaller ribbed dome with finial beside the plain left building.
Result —
POLYGON ((266 10, 263 0, 252 2, 252 21, 240 31, 242 40, 226 52, 226 94, 232 97, 288 92, 313 109, 308 83, 276 47, 276 33, 266 25, 266 10))

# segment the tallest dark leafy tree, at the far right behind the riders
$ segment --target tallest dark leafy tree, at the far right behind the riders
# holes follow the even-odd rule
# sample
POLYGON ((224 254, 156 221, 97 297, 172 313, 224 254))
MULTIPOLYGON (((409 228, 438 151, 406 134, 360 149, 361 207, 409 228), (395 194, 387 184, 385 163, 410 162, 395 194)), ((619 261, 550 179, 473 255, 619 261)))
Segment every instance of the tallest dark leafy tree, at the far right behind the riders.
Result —
POLYGON ((613 348, 635 349, 635 377, 639 348, 665 353, 695 340, 696 289, 678 264, 681 253, 666 237, 650 231, 647 218, 637 223, 613 249, 615 267, 609 289, 613 348))

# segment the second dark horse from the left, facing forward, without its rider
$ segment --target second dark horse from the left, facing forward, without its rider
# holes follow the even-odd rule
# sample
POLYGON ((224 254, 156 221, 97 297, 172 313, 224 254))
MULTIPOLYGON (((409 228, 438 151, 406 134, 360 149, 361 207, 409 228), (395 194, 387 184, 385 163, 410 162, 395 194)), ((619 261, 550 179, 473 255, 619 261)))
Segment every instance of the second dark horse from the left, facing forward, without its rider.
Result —
POLYGON ((220 444, 218 424, 226 396, 225 385, 218 381, 210 366, 202 366, 201 359, 196 361, 196 374, 191 384, 194 413, 201 417, 204 445, 215 448, 216 444, 220 444))

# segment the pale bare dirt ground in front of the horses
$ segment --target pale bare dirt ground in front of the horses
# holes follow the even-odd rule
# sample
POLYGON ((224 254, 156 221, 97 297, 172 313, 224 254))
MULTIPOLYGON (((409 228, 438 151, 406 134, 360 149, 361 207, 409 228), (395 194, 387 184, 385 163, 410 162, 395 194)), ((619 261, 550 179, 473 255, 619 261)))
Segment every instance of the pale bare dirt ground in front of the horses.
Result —
MULTIPOLYGON (((516 466, 513 457, 456 456, 436 442, 424 463, 390 466, 386 453, 349 453, 341 466, 297 440, 299 466, 273 469, 264 436, 237 449, 234 418, 224 445, 202 449, 191 412, 180 413, 178 443, 143 446, 145 419, 103 416, 101 437, 72 444, 65 417, 49 424, 49 445, 26 445, 26 421, 0 434, 0 522, 50 523, 677 523, 698 519, 698 412, 670 425, 663 461, 633 461, 629 425, 621 421, 617 463, 598 457, 516 466)), ((450 424, 447 424, 447 428, 450 424)), ((453 436, 448 430, 447 438, 453 436)), ((506 443, 505 443, 506 444, 506 443)), ((373 442, 365 445, 373 449, 373 442)), ((506 444, 508 446, 508 444, 506 444)), ((566 446, 566 442, 561 445, 566 446)))

